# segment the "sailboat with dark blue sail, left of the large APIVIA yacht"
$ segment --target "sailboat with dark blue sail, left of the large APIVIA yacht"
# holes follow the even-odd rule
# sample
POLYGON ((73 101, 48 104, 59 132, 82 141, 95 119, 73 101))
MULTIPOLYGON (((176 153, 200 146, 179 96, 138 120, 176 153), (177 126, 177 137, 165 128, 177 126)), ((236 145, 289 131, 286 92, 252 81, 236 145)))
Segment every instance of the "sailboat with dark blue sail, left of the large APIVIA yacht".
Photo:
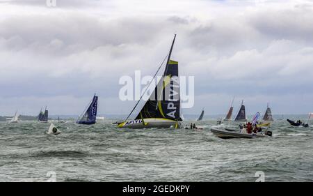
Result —
POLYGON ((86 110, 83 111, 83 114, 79 116, 79 119, 76 122, 79 124, 84 124, 84 125, 92 125, 96 123, 97 105, 98 105, 98 97, 94 95, 93 100, 88 105, 86 110))

